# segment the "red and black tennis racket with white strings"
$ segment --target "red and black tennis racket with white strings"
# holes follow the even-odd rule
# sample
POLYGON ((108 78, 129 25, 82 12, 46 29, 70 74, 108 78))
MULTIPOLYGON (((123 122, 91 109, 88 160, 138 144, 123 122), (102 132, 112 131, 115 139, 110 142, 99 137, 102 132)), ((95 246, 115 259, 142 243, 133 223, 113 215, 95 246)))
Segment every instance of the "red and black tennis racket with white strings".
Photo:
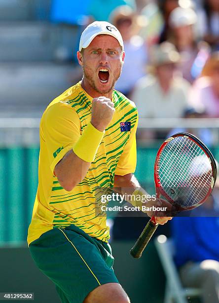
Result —
MULTIPOLYGON (((177 211, 191 210, 204 203, 214 189, 216 177, 217 166, 212 153, 191 134, 173 135, 157 152, 154 163, 156 196, 166 199, 177 211)), ((134 258, 142 256, 157 226, 153 216, 130 251, 134 258)))

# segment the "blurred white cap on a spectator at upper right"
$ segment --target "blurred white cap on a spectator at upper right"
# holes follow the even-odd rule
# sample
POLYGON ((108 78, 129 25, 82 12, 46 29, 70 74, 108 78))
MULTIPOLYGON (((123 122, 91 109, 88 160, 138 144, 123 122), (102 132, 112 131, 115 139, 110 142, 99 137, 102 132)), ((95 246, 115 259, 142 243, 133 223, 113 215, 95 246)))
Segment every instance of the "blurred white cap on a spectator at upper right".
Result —
POLYGON ((181 27, 195 24, 197 15, 191 8, 177 7, 170 14, 170 25, 172 27, 181 27))

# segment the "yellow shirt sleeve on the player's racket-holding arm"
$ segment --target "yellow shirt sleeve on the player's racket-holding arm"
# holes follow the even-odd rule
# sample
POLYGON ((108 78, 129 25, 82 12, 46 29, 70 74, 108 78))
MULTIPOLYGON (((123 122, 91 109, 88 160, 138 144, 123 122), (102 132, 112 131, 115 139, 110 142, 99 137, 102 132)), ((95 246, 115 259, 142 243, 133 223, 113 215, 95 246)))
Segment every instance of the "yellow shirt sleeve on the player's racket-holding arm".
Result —
POLYGON ((137 163, 137 151, 136 151, 136 130, 138 126, 138 111, 137 120, 134 127, 131 129, 131 134, 124 150, 119 158, 115 169, 115 175, 124 176, 130 173, 134 173, 137 163))

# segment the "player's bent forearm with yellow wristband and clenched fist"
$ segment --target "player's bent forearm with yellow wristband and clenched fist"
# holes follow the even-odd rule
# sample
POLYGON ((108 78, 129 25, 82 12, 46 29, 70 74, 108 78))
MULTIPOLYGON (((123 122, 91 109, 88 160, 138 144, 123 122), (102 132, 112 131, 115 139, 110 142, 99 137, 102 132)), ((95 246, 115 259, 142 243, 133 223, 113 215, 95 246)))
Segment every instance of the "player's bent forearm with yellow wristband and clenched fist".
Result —
POLYGON ((80 141, 78 140, 73 150, 67 152, 62 160, 56 164, 54 169, 60 185, 66 191, 72 191, 86 176, 102 136, 104 135, 104 131, 113 117, 114 111, 114 104, 110 99, 105 97, 93 99, 91 125, 88 125, 86 129, 88 131, 89 128, 89 132, 91 133, 86 137, 84 130, 83 134, 85 137, 83 137, 82 134, 81 138, 79 138, 80 141), (95 140, 95 134, 100 140, 95 140))

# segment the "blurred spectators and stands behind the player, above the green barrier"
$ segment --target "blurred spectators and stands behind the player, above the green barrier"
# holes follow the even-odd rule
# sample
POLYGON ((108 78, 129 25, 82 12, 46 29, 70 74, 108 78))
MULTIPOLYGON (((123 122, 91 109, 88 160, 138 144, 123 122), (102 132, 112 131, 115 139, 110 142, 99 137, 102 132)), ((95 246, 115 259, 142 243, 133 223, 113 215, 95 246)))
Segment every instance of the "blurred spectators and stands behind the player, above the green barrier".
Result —
MULTIPOLYGON (((219 117, 218 0, 0 0, 1 118, 40 118, 81 79, 76 51, 93 20, 109 21, 122 34, 126 57, 115 89, 148 119, 139 124, 140 144, 198 125, 176 119, 219 117)), ((217 121, 206 119, 193 132, 216 144, 217 121)), ((10 127, 11 121, 1 123, 10 127)), ((0 129, 0 142, 36 144, 37 123, 29 120, 31 131, 10 136, 0 129)))

